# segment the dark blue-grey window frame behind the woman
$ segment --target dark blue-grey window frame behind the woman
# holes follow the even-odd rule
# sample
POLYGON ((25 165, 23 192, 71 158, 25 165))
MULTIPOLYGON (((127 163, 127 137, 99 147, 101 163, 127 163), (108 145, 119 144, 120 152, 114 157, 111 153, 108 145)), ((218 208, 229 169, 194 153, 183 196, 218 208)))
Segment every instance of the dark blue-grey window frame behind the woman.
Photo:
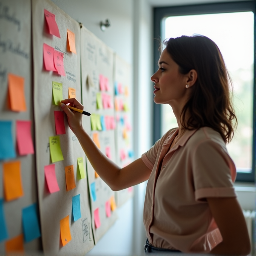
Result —
MULTIPOLYGON (((161 30, 163 29, 162 20, 169 16, 182 15, 198 15, 198 14, 217 14, 229 12, 245 12, 252 11, 254 13, 254 74, 253 74, 253 141, 252 141, 252 172, 251 173, 237 173, 236 181, 238 182, 254 182, 255 180, 255 136, 256 136, 256 1, 243 2, 227 2, 227 3, 210 3, 199 5, 183 5, 183 6, 169 6, 169 7, 155 7, 154 12, 154 73, 158 70, 159 53, 159 39, 161 38, 161 30)), ((162 108, 161 104, 153 104, 153 142, 160 139, 162 133, 162 108)))

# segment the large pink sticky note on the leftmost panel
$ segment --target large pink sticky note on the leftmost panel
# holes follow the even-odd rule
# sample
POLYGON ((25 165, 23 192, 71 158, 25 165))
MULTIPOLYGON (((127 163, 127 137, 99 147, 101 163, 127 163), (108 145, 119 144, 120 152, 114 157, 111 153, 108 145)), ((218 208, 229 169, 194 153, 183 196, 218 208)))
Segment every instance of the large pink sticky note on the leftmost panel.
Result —
POLYGON ((20 155, 34 154, 31 121, 16 121, 17 145, 20 155))

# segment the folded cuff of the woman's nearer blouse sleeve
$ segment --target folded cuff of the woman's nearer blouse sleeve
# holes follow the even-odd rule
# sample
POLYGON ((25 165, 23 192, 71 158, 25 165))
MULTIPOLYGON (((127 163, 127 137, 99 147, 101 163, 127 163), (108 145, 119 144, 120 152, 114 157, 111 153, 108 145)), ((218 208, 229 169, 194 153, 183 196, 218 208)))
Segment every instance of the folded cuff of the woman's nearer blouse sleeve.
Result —
POLYGON ((207 197, 236 197, 234 187, 210 187, 195 191, 195 200, 207 197))

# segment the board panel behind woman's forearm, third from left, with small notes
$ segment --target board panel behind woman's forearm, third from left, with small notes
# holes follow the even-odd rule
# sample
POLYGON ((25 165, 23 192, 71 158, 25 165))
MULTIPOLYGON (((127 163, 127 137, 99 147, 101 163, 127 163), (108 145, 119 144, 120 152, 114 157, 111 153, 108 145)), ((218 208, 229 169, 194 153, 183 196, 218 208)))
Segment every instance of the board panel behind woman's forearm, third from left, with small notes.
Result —
MULTIPOLYGON (((94 142, 98 139, 101 151, 115 162, 113 51, 85 27, 81 28, 81 74, 82 104, 84 110, 91 113, 91 118, 86 116, 83 118, 83 126, 94 139, 94 142), (108 88, 105 88, 105 85, 108 88), (110 101, 108 104, 104 103, 104 97, 110 101), (112 118, 110 124, 108 123, 109 119, 105 119, 106 116, 107 119, 108 117, 112 118), (94 124, 91 122, 94 122, 92 120, 94 117, 98 120, 100 127, 93 127, 94 124), (98 118, 102 118, 103 123, 98 118)), ((98 175, 88 160, 87 174, 94 242, 96 244, 116 220, 116 204, 113 201, 114 192, 100 177, 97 177, 98 175), (110 204, 111 210, 109 209, 110 204)))

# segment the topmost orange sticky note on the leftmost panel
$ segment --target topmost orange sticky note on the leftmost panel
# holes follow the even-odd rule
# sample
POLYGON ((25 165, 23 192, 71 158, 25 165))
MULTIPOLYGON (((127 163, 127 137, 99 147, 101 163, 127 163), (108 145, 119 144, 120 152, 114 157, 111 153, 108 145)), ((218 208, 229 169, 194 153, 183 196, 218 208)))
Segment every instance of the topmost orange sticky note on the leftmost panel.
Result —
POLYGON ((26 100, 24 95, 24 78, 8 74, 9 100, 12 111, 26 111, 26 100))

